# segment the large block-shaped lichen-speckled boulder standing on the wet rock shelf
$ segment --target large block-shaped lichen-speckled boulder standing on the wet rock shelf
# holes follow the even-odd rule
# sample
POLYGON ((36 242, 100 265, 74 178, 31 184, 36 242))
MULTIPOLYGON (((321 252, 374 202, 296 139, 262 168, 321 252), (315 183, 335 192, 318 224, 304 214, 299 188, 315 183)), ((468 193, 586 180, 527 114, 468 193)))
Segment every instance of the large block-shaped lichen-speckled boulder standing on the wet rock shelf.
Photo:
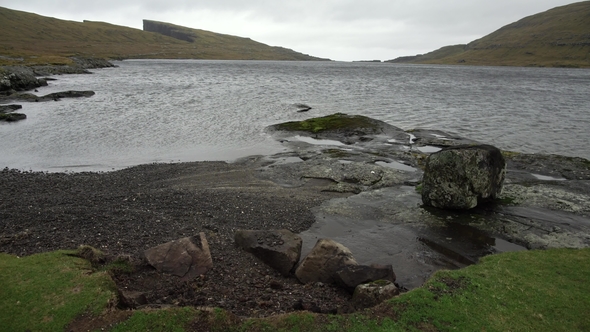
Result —
POLYGON ((422 202, 443 209, 471 209, 496 198, 506 174, 502 152, 491 145, 461 145, 426 160, 422 202))

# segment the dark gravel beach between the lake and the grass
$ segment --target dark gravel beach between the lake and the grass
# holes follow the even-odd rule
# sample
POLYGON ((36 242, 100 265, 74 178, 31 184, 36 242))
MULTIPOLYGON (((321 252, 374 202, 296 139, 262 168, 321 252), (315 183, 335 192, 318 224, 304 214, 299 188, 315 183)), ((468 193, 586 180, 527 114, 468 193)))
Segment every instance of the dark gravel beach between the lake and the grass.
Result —
MULTIPOLYGON (((262 317, 295 310, 336 312, 349 294, 285 278, 234 245, 237 229, 295 233, 310 208, 332 198, 317 188, 282 188, 256 177, 260 161, 153 164, 109 173, 0 171, 0 251, 18 256, 86 244, 135 271, 121 289, 145 292, 149 306, 225 308, 262 317), (143 251, 205 232, 214 267, 190 282, 148 266, 143 251)), ((345 310, 345 309, 344 309, 345 310)))

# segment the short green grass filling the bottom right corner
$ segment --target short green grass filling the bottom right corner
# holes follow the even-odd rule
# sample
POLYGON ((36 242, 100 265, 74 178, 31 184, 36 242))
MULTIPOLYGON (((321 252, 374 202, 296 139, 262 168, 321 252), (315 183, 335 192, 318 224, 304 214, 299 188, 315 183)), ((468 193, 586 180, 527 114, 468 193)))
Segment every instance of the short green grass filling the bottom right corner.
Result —
POLYGON ((488 256, 462 270, 439 272, 390 305, 405 327, 588 331, 590 249, 488 256))

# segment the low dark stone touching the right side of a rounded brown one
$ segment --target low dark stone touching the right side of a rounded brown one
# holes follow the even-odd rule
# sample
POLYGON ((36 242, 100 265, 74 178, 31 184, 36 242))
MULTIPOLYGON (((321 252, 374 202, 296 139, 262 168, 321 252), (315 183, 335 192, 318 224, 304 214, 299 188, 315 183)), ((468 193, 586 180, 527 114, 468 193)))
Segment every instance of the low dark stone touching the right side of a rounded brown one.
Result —
POLYGON ((373 264, 367 265, 346 265, 336 271, 334 281, 336 284, 350 293, 360 284, 377 280, 388 280, 395 282, 395 273, 391 265, 373 264))

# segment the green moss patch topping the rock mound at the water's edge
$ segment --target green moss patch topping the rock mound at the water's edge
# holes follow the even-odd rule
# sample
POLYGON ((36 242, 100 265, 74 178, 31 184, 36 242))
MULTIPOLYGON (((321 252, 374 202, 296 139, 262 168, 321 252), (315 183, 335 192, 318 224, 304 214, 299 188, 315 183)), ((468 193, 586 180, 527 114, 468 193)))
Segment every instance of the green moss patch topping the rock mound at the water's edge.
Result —
POLYGON ((303 131, 312 134, 319 134, 327 131, 360 130, 365 129, 371 132, 381 127, 371 118, 361 115, 347 115, 336 113, 324 117, 312 118, 303 121, 291 121, 273 126, 283 131, 303 131))

